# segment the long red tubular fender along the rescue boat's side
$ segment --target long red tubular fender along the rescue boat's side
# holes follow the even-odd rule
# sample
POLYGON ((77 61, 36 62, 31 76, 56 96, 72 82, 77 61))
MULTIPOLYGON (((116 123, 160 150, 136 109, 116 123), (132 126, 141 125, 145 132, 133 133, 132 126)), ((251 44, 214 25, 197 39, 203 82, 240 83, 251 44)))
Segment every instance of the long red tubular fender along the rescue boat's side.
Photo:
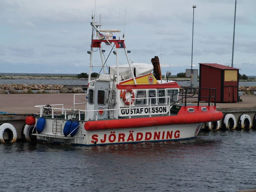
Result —
POLYGON ((223 117, 223 113, 216 111, 208 114, 192 114, 177 116, 158 116, 145 117, 137 119, 113 119, 102 121, 87 121, 84 124, 86 131, 123 129, 123 128, 141 128, 158 125, 190 124, 218 121, 223 117))

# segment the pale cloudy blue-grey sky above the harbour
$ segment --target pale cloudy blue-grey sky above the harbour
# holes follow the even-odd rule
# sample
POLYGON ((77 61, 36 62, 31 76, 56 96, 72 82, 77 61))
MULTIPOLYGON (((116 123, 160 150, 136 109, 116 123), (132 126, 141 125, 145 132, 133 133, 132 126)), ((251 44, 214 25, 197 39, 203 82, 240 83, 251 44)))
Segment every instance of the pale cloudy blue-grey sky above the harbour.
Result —
MULTIPOLYGON (((0 73, 88 73, 92 12, 98 22, 101 15, 102 29, 120 29, 114 35, 121 39, 125 33, 131 61, 151 64, 158 56, 162 74, 185 73, 193 5, 193 69, 231 66, 235 0, 0 0, 0 73)), ((256 76, 255 7, 255 0, 237 0, 233 67, 247 76, 256 76)), ((108 66, 116 64, 113 56, 108 66)), ((93 64, 101 64, 97 52, 93 64)))

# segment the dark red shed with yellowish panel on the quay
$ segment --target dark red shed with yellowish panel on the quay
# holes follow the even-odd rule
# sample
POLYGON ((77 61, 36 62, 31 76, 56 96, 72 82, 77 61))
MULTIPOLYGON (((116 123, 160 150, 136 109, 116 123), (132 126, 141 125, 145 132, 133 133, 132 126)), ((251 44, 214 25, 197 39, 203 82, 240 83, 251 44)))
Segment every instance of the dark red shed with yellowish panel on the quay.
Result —
MULTIPOLYGON (((238 79, 237 68, 216 63, 199 64, 199 88, 216 88, 216 102, 237 102, 238 79)), ((209 90, 200 89, 199 96, 201 101, 208 101, 202 97, 209 97, 209 90)))

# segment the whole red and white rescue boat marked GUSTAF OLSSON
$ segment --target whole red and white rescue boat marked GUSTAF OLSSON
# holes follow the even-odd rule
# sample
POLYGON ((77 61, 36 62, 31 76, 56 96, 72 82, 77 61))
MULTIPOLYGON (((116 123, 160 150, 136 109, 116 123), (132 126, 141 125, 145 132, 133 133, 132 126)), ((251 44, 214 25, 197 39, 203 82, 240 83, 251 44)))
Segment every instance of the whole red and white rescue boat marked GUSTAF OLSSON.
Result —
MULTIPOLYGON (((26 122, 35 125, 30 132, 38 142, 106 145, 185 140, 195 138, 205 122, 222 119, 223 114, 216 111, 216 105, 201 106, 200 98, 198 105, 188 104, 186 99, 191 94, 187 93, 191 90, 181 89, 175 81, 162 80, 157 57, 152 58, 152 64, 131 63, 124 38, 117 40, 113 36, 119 30, 99 29, 101 25, 94 20, 91 26, 97 35, 92 34, 91 50, 88 51, 87 94, 74 95, 73 109, 61 104, 35 106, 40 108, 40 114, 28 117, 26 122), (109 55, 115 57, 115 66, 106 66, 102 46, 110 48, 109 55), (102 61, 98 66, 93 64, 96 51, 102 61), (121 53, 128 64, 119 65, 121 53), (93 67, 100 67, 103 74, 99 73, 92 80, 93 67), (86 96, 86 102, 76 103, 76 96, 86 96), (76 109, 78 105, 84 107, 76 109)), ((215 90, 208 91, 212 102, 215 90)))

